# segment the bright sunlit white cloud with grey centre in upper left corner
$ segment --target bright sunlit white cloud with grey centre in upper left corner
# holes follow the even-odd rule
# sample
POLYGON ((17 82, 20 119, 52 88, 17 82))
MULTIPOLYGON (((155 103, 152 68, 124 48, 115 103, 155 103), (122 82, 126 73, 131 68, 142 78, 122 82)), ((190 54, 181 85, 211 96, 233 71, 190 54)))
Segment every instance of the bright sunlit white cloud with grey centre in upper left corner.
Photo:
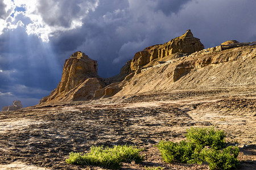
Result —
POLYGON ((89 11, 94 11, 98 3, 99 0, 0 0, 0 11, 4 11, 0 13, 0 35, 5 28, 26 26, 28 35, 37 35, 42 41, 48 42, 49 37, 58 32, 81 28, 84 24, 82 19, 89 11), (31 22, 24 24, 23 20, 19 20, 15 23, 15 17, 21 13, 14 11, 15 7, 24 8, 23 19, 29 18, 31 22))

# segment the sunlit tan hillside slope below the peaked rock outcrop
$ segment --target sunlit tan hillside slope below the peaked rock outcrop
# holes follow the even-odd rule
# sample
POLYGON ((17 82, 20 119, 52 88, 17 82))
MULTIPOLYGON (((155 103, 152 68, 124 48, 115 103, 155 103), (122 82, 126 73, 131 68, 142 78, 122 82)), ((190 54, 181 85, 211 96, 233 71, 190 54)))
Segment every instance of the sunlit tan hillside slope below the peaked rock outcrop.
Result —
POLYGON ((142 69, 116 94, 256 86, 256 45, 193 53, 142 69))

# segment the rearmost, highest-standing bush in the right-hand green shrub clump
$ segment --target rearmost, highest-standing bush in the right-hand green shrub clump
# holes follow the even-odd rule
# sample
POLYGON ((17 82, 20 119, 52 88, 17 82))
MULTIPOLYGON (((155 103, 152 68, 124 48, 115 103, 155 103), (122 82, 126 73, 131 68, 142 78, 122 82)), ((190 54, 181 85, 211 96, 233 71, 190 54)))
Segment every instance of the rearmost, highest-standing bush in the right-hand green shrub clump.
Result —
POLYGON ((210 146, 216 150, 226 146, 224 138, 226 134, 223 130, 214 130, 214 127, 210 128, 193 128, 187 130, 185 134, 187 139, 193 143, 196 143, 199 150, 204 146, 210 146))

